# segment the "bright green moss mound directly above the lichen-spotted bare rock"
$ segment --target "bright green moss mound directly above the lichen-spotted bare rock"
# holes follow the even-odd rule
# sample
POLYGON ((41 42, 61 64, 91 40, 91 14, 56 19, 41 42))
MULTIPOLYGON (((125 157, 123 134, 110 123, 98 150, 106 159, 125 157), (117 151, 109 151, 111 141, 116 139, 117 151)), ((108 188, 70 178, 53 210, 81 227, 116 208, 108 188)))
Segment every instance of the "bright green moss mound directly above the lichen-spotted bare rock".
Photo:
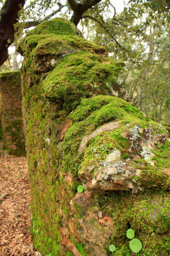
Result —
MULTIPOLYGON (((61 147, 65 153, 63 158, 64 171, 68 173, 71 169, 75 176, 77 176, 81 168, 95 166, 95 162, 100 164, 114 148, 119 149, 121 152, 126 151, 130 145, 128 140, 121 136, 121 133, 127 127, 125 124, 128 123, 128 129, 130 129, 135 124, 142 128, 148 128, 151 123, 137 108, 125 100, 101 95, 82 99, 80 105, 70 114, 70 117, 75 123, 69 128, 61 147), (97 127, 108 121, 119 121, 121 127, 111 132, 102 132, 91 138, 84 147, 82 154, 77 154, 82 137, 91 134, 97 127)), ((154 124, 153 131, 156 131, 156 128, 157 126, 154 124)), ((164 129, 162 132, 164 132, 164 129)), ((127 157, 127 153, 122 154, 122 158, 127 157)), ((131 157, 133 158, 133 156, 131 157)), ((151 165, 148 166, 153 169, 151 165)), ((163 176, 163 180, 167 180, 166 175, 163 176)), ((155 179, 153 176, 152 184, 154 184, 155 179)), ((159 180, 159 184, 163 180, 159 180)), ((167 188, 168 184, 165 187, 167 188)))

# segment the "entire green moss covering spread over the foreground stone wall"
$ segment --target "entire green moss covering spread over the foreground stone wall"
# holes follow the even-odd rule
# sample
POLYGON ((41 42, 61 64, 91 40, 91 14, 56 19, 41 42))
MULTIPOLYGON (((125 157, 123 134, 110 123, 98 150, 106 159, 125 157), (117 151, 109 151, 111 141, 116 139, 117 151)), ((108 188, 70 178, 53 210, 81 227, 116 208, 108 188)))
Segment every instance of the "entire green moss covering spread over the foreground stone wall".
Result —
MULTIPOLYGON (((62 246, 60 230, 61 226, 68 224, 70 217, 74 216, 77 219, 82 217, 78 207, 74 207, 72 213, 70 205, 77 186, 81 183, 78 174, 82 165, 92 165, 94 159, 104 160, 113 148, 118 148, 122 155, 126 156, 129 142, 121 136, 121 133, 127 124, 129 128, 133 128, 134 125, 143 129, 152 127, 153 134, 167 134, 167 131, 166 127, 161 127, 151 119, 145 118, 139 109, 128 102, 109 96, 112 92, 111 86, 113 89, 116 77, 123 70, 122 63, 114 61, 110 64, 103 63, 106 59, 99 54, 104 48, 77 36, 74 37, 72 32, 69 36, 60 35, 59 32, 57 32, 59 35, 52 35, 57 34, 53 30, 54 26, 51 29, 51 23, 49 28, 48 23, 45 28, 37 27, 19 46, 22 52, 25 52, 22 87, 27 120, 27 162, 31 184, 31 234, 35 248, 43 256, 50 253, 53 256, 70 256, 71 252, 62 246), (44 29, 46 36, 43 35, 44 29), (29 46, 28 51, 26 43, 29 46), (62 54, 57 55, 58 47, 64 51, 66 49, 76 51, 61 56, 62 54), (43 56, 48 54, 57 56, 56 67, 53 67, 52 71, 47 70, 45 74, 36 71, 40 51, 43 56), (71 119, 71 127, 64 140, 58 143, 60 126, 64 124, 66 117, 71 119), (91 134, 99 126, 110 121, 119 121, 120 127, 91 138, 79 154, 78 149, 84 135, 91 134), (69 173, 72 175, 72 186, 64 180, 64 176, 69 173)), ((157 150, 155 156, 159 159, 165 158, 166 154, 159 155, 161 148, 157 150)), ((133 152, 130 154, 133 155, 133 152)), ((167 166, 168 162, 165 165, 167 166)), ((98 198, 102 211, 113 216, 115 221, 112 241, 117 246, 116 255, 130 255, 125 238, 128 221, 131 221, 130 224, 135 229, 137 237, 144 243, 153 225, 142 221, 140 226, 139 221, 136 220, 137 213, 134 216, 131 213, 132 209, 135 212, 136 201, 143 204, 146 198, 152 198, 151 194, 154 197, 155 190, 152 193, 147 191, 145 194, 140 194, 139 198, 132 197, 130 192, 107 194, 106 202, 105 197, 98 198), (106 208, 107 200, 111 204, 110 210, 106 208), (138 228, 143 231, 138 232, 138 228)), ((161 236, 156 234, 156 236, 159 236, 159 241, 167 243, 168 236, 165 234, 161 236)), ((73 236, 72 241, 74 243, 73 236)), ((147 252, 158 251, 155 249, 156 245, 157 243, 154 243, 150 247, 153 250, 146 249, 147 252)), ((76 247, 82 255, 86 255, 87 252, 81 243, 76 247)), ((168 250, 166 249, 165 252, 168 250)))

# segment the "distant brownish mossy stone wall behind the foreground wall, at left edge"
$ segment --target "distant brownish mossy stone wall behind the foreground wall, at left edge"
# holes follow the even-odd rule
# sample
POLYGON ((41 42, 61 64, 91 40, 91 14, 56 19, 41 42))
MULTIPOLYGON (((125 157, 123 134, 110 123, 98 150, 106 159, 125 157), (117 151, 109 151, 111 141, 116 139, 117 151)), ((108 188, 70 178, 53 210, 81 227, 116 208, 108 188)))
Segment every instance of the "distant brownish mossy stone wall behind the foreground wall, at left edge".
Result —
POLYGON ((3 146, 9 154, 26 154, 22 124, 20 71, 0 73, 0 125, 3 146))

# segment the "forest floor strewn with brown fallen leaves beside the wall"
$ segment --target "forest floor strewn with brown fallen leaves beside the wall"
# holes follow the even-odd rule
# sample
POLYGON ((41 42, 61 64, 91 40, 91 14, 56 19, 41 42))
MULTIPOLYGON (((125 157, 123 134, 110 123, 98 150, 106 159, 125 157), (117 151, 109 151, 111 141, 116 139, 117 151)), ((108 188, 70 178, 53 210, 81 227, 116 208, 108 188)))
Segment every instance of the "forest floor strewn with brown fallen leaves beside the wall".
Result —
POLYGON ((0 255, 40 255, 31 243, 26 157, 0 151, 0 255))

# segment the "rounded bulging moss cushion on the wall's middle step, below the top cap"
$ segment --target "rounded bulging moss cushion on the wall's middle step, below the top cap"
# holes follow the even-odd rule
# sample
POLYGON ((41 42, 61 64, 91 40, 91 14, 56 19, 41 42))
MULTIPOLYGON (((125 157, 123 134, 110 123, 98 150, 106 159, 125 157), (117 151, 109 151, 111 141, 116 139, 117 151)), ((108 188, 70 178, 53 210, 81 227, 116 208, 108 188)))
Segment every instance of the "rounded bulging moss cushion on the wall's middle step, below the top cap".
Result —
POLYGON ((99 55, 84 51, 66 56, 46 77, 44 96, 57 102, 62 99, 62 107, 70 111, 82 97, 108 94, 122 63, 107 65, 103 61, 99 55))

